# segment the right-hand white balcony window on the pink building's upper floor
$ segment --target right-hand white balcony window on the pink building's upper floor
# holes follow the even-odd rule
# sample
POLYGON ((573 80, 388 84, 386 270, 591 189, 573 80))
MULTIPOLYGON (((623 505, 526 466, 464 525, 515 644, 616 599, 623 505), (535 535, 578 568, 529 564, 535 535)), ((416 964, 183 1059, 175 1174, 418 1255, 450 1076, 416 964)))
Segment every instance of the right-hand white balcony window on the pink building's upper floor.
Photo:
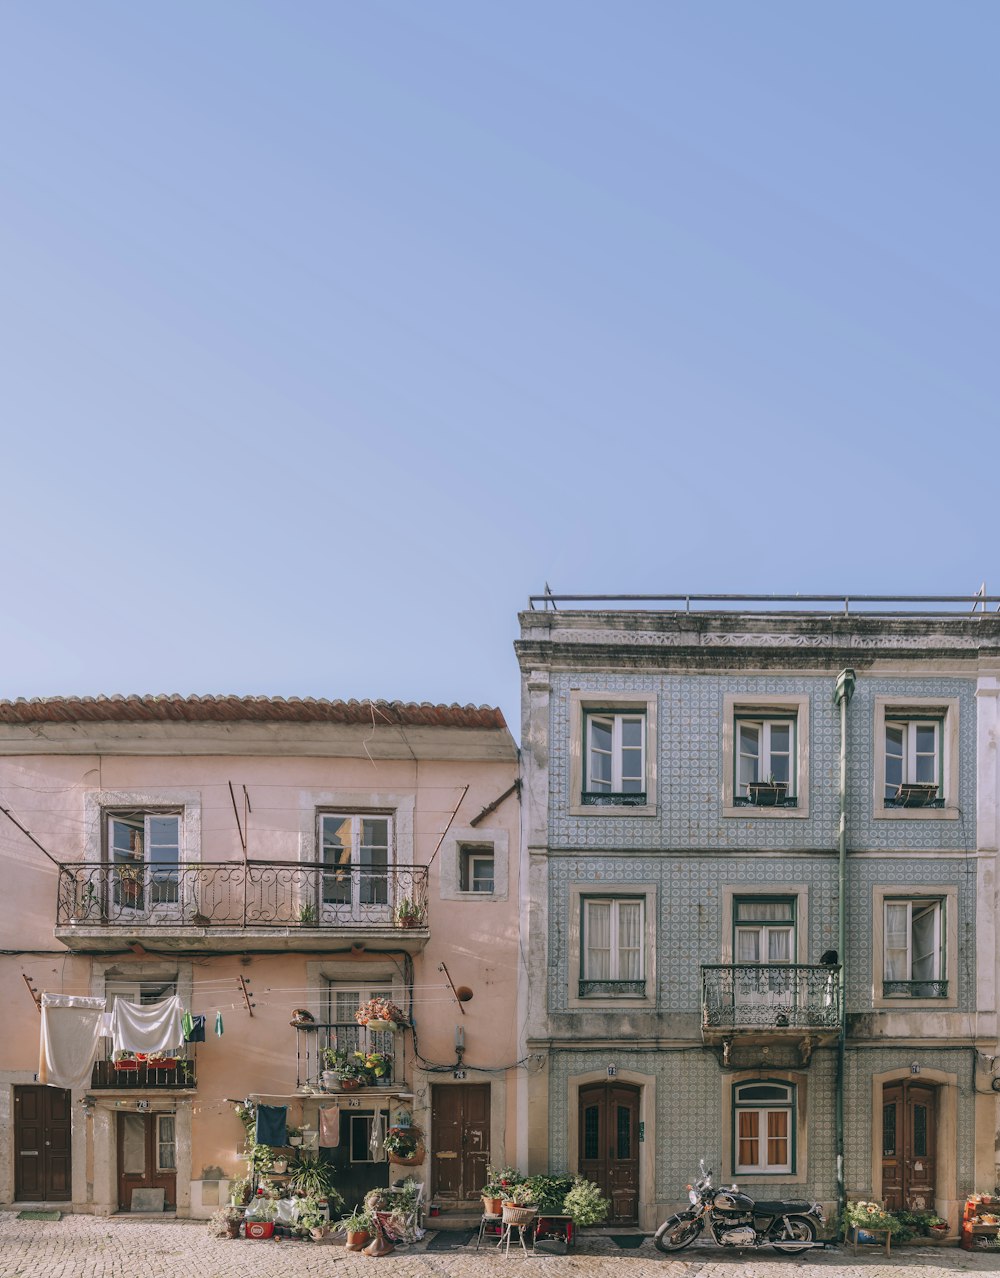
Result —
POLYGON ((326 918, 376 923, 389 918, 391 835, 387 815, 321 813, 321 906, 326 918))

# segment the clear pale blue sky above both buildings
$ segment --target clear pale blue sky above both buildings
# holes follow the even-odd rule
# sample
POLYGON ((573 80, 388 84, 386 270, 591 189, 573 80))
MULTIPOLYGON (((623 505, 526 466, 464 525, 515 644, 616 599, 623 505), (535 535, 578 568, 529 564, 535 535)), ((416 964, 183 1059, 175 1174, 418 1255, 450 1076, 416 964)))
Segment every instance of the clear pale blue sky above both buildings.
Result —
POLYGON ((1000 5, 6 0, 0 695, 1000 593, 1000 5))

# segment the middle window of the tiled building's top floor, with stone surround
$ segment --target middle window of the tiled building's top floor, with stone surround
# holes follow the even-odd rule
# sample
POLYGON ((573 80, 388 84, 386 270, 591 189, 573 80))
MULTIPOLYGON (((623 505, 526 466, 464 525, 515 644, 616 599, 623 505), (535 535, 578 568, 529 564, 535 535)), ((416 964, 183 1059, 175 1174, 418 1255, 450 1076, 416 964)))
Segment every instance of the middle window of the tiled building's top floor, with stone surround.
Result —
POLYGON ((723 716, 723 815, 808 817, 809 698, 730 693, 723 716))

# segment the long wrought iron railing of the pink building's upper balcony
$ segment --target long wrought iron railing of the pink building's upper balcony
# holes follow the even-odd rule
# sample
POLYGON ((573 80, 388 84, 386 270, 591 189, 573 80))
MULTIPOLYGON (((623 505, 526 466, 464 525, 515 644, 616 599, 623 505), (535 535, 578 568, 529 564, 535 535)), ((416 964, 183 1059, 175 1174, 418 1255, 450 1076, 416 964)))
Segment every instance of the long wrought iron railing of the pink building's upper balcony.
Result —
POLYGON ((427 868, 302 861, 59 866, 56 927, 426 927, 427 868))

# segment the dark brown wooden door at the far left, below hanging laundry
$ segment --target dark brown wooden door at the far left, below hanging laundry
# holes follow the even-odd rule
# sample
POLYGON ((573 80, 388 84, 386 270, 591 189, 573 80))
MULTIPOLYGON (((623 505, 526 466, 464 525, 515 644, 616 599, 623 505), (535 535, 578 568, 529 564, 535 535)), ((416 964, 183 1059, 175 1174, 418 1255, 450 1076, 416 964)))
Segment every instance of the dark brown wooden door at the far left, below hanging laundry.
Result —
POLYGON ((70 1095, 63 1088, 14 1088, 14 1197, 68 1203, 73 1197, 70 1095))

